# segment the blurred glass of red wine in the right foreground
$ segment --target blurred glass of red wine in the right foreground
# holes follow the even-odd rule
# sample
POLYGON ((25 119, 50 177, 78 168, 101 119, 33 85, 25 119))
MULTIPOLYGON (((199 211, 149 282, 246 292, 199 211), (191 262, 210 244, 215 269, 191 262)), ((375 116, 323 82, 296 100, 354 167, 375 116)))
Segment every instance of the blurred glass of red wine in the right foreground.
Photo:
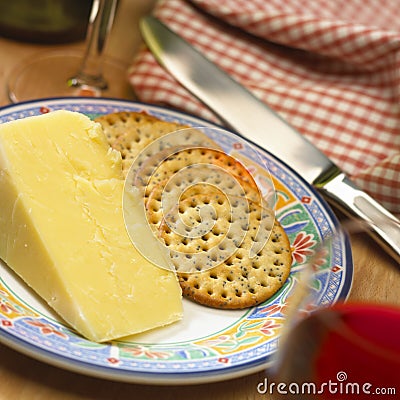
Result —
POLYGON ((324 239, 303 266, 288 307, 273 367, 259 392, 273 399, 397 398, 400 385, 400 308, 382 302, 316 303, 312 281, 321 254, 338 237, 368 230, 346 222, 324 239))

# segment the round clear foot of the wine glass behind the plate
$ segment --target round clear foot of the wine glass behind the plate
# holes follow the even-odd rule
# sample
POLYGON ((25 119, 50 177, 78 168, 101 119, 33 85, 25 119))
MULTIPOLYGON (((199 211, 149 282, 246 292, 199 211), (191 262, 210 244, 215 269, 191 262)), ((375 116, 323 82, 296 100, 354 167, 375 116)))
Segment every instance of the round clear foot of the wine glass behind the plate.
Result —
POLYGON ((128 66, 106 56, 103 56, 103 75, 107 88, 70 85, 69 81, 78 72, 82 58, 83 52, 54 51, 25 62, 9 79, 7 92, 10 101, 18 103, 65 96, 132 99, 133 92, 127 79, 128 66))

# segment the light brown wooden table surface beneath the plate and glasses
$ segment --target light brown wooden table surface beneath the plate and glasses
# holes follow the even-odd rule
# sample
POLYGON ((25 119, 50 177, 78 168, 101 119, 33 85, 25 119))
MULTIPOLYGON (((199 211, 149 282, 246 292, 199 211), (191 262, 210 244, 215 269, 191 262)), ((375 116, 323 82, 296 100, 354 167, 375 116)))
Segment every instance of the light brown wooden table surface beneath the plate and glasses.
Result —
MULTIPOLYGON (((121 0, 107 53, 130 62, 141 44, 140 16, 154 0, 121 0)), ((8 104, 6 78, 15 66, 38 51, 82 48, 83 43, 45 46, 0 38, 0 105, 8 104)), ((133 94, 127 95, 133 99, 133 94)), ((352 236, 354 283, 349 300, 379 301, 400 305, 398 265, 365 234, 352 236)), ((49 366, 0 344, 0 400, 73 399, 268 399, 257 392, 263 372, 226 382, 196 386, 150 386, 100 380, 49 366)))

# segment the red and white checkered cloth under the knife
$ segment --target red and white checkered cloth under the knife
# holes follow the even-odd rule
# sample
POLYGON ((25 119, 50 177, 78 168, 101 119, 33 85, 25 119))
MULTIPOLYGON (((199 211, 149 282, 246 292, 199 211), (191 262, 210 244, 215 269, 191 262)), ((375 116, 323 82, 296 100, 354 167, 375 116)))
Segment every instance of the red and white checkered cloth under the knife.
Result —
MULTIPOLYGON (((400 214, 399 0, 164 0, 154 14, 400 214)), ((144 102, 216 116, 143 48, 144 102)))

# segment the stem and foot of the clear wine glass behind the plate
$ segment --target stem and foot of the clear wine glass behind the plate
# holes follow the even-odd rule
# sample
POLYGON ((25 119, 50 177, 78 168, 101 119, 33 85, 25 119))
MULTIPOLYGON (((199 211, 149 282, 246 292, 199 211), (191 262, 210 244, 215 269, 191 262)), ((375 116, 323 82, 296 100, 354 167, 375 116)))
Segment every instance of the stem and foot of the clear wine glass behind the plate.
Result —
POLYGON ((9 99, 17 103, 61 96, 124 97, 127 66, 104 55, 116 6, 117 0, 93 0, 84 54, 55 50, 22 63, 9 78, 9 99))

